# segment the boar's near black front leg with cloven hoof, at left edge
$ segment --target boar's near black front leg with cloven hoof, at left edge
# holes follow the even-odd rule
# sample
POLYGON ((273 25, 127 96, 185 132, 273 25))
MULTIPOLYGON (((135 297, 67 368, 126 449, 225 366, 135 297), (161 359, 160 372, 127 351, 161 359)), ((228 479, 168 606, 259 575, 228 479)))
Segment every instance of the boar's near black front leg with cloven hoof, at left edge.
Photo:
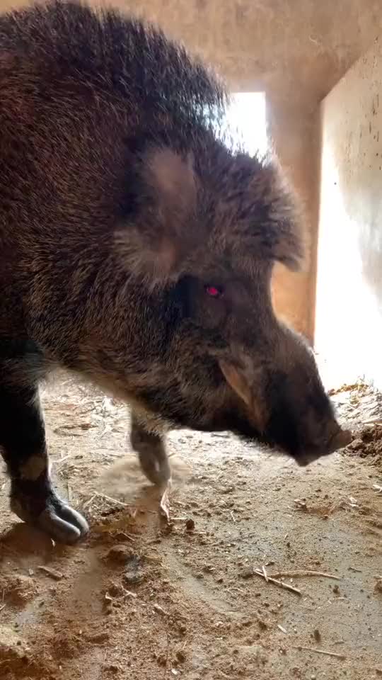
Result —
POLYGON ((37 387, 6 385, 0 369, 0 448, 11 475, 11 509, 54 540, 74 543, 88 525, 52 488, 37 387))

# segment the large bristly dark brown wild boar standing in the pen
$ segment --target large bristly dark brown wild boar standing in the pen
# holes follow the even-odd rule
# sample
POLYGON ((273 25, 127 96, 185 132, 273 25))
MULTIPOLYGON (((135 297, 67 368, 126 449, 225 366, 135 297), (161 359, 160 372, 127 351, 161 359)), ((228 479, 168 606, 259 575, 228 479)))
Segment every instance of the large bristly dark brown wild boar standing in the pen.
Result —
POLYGON ((277 320, 303 259, 277 163, 219 132, 219 79, 158 30, 69 2, 0 18, 0 444, 11 507, 55 540, 86 520, 50 480, 38 387, 57 366, 132 408, 146 476, 171 428, 300 465, 349 441, 311 350, 277 320))

